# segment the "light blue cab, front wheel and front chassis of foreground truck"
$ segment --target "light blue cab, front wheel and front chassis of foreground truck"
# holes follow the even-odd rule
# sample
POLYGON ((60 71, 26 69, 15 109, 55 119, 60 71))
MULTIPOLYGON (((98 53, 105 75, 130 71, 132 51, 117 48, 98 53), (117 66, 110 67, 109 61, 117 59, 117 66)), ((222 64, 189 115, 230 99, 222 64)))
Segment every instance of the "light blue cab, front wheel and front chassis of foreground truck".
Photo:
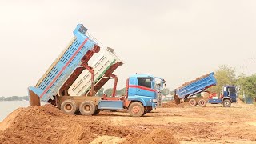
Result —
POLYGON ((102 98, 98 101, 99 110, 126 109, 131 116, 140 117, 157 106, 157 96, 165 80, 150 74, 134 74, 127 79, 126 96, 102 98))

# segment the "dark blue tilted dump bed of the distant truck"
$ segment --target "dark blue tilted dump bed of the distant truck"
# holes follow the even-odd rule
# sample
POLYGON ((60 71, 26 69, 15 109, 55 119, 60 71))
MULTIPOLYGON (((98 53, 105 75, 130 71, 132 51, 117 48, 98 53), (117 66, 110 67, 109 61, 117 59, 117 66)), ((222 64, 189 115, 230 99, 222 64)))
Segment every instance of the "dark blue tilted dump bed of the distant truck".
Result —
POLYGON ((203 75, 194 81, 186 82, 182 86, 175 89, 175 95, 178 98, 185 99, 195 94, 201 93, 203 90, 216 85, 214 73, 203 75))

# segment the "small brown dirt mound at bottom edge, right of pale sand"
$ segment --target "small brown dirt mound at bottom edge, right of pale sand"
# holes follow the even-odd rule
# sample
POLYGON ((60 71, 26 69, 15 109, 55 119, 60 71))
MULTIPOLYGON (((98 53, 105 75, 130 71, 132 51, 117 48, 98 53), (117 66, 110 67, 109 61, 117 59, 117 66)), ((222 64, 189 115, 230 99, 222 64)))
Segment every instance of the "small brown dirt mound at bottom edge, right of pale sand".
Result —
POLYGON ((124 143, 150 143, 150 144, 178 144, 179 142, 174 138, 172 134, 166 129, 155 129, 150 133, 142 134, 138 138, 130 139, 130 141, 124 143))

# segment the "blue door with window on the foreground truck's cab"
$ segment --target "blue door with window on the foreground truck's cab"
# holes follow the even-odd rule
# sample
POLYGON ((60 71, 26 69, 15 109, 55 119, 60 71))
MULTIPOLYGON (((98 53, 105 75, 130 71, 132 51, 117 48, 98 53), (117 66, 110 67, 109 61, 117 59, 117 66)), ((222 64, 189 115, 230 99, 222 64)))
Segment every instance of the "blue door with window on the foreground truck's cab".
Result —
POLYGON ((155 94, 156 94, 156 90, 154 90, 153 78, 150 78, 150 77, 138 78, 136 95, 155 97, 155 94))

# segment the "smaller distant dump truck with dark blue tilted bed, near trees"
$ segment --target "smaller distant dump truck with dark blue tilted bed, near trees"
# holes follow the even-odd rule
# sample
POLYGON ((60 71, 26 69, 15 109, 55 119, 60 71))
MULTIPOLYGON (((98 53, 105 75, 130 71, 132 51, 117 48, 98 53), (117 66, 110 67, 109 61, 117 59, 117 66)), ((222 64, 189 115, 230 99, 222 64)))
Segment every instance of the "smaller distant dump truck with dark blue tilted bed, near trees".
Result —
POLYGON ((214 72, 203 75, 175 89, 174 100, 176 104, 179 104, 182 99, 185 102, 189 102, 190 106, 206 106, 208 102, 212 104, 222 103, 224 107, 230 107, 232 102, 236 102, 236 86, 223 86, 222 93, 218 96, 217 93, 207 90, 211 86, 215 86, 216 83, 214 72), (201 94, 202 92, 206 93, 208 97, 196 97, 197 94, 201 94))

